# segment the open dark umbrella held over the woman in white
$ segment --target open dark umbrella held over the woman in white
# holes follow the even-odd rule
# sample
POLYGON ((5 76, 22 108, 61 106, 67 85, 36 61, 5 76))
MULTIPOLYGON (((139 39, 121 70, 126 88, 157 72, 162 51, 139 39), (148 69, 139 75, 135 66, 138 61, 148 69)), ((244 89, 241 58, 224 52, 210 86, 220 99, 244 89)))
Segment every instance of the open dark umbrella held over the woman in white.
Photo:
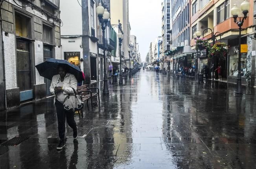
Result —
POLYGON ((54 75, 59 74, 59 65, 63 65, 64 67, 66 67, 66 71, 70 74, 73 74, 76 77, 77 81, 84 80, 83 73, 80 68, 76 65, 69 63, 67 60, 47 59, 46 61, 40 63, 39 65, 36 65, 35 67, 37 68, 40 76, 52 80, 52 77, 54 75))

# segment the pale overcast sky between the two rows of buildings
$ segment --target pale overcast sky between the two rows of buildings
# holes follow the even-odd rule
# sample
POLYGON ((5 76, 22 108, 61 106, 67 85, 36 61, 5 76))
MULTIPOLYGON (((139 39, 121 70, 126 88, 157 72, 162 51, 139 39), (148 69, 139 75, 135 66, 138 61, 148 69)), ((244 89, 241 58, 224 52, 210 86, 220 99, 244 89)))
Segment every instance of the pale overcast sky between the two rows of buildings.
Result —
POLYGON ((142 62, 149 45, 162 33, 162 0, 129 0, 131 35, 137 37, 142 62))

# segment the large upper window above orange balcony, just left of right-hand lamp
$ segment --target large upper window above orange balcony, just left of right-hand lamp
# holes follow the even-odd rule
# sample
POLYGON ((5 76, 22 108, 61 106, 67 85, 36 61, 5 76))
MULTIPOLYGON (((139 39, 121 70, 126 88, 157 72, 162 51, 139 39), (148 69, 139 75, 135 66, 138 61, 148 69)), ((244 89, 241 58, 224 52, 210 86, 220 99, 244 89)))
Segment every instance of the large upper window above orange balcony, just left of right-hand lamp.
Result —
POLYGON ((229 0, 217 7, 217 24, 229 18, 229 0))

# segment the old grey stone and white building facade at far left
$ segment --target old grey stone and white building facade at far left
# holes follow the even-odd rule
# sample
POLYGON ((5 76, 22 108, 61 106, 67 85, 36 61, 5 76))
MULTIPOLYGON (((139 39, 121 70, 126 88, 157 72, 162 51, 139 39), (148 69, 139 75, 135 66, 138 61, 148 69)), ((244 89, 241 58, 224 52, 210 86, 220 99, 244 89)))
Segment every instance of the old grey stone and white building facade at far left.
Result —
POLYGON ((1 4, 0 109, 11 108, 49 93, 50 80, 35 65, 48 58, 61 59, 58 0, 6 1, 1 4), (4 83, 2 79, 5 79, 4 83), (4 94, 2 95, 2 92, 4 94), (4 98, 3 98, 4 97, 4 98), (4 103, 5 105, 2 105, 4 103))

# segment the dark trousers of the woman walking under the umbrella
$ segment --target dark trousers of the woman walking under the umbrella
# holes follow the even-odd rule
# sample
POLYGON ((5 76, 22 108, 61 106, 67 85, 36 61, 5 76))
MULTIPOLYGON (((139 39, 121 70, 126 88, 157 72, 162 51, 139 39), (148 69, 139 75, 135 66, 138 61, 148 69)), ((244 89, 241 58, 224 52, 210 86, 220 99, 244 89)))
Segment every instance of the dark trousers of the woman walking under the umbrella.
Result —
POLYGON ((58 119, 58 130, 59 138, 64 141, 65 138, 65 120, 67 119, 68 126, 72 129, 76 129, 76 122, 74 119, 75 112, 65 111, 63 104, 56 100, 56 110, 57 110, 57 119, 58 119))

